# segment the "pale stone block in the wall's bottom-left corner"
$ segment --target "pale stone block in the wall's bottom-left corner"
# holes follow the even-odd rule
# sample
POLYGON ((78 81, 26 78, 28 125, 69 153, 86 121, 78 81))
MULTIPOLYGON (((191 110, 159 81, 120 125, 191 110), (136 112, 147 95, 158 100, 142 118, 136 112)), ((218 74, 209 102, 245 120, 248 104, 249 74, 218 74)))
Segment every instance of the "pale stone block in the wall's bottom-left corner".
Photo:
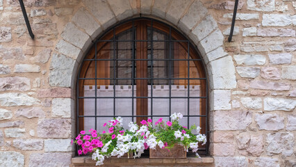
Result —
POLYGON ((22 167, 24 166, 24 155, 19 152, 11 151, 0 152, 0 164, 3 167, 22 167))

